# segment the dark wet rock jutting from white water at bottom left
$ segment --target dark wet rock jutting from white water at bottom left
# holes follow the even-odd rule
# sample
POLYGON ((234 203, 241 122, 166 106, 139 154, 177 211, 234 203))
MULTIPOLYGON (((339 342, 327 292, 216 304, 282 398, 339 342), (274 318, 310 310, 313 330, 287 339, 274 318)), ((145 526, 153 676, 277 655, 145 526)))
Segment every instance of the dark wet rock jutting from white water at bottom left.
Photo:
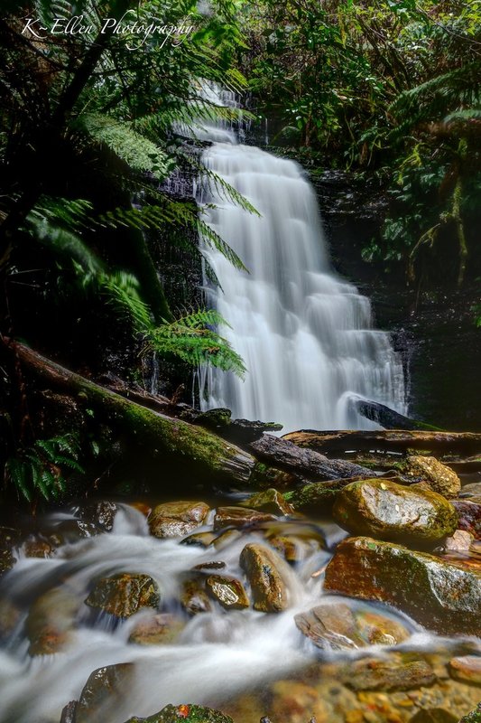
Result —
POLYGON ((108 720, 128 699, 133 676, 132 662, 107 665, 93 671, 80 693, 75 723, 108 720))

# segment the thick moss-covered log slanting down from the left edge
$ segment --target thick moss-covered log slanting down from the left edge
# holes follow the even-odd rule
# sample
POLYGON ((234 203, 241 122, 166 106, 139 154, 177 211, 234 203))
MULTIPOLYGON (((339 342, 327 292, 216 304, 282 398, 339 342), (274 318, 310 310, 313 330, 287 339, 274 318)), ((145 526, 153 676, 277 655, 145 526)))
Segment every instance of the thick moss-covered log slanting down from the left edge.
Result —
MULTIPOLYGON (((96 418, 117 433, 128 437, 129 444, 142 450, 151 460, 159 460, 159 478, 170 474, 179 482, 225 481, 245 484, 254 470, 255 459, 203 427, 194 427, 180 419, 145 408, 116 392, 69 371, 34 352, 23 343, 6 341, 16 355, 26 379, 61 390, 91 410, 96 418)), ((145 461, 140 458, 142 463, 145 461)))

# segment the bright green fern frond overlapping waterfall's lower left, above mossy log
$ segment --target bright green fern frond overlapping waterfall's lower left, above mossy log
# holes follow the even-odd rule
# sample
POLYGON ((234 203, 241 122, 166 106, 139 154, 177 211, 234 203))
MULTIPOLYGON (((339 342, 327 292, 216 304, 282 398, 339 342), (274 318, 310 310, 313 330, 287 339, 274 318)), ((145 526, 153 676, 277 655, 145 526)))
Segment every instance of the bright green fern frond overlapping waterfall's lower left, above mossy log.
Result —
POLYGON ((215 331, 222 324, 228 325, 217 311, 199 309, 153 329, 147 347, 162 354, 175 354, 193 366, 208 363, 243 377, 245 365, 241 357, 215 331))

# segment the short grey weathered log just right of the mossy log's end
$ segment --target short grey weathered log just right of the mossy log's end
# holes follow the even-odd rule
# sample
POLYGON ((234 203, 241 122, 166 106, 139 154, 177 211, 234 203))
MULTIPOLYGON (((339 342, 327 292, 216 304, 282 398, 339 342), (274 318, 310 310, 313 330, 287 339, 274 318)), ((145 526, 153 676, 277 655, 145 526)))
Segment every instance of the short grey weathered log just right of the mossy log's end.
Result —
POLYGON ((324 455, 319 455, 319 452, 302 449, 301 446, 293 444, 294 440, 289 441, 287 437, 279 438, 273 437, 273 435, 263 435, 260 439, 247 445, 247 448, 258 459, 264 460, 275 467, 300 473, 303 477, 319 481, 356 476, 372 477, 375 475, 367 467, 361 467, 340 459, 328 459, 324 455))

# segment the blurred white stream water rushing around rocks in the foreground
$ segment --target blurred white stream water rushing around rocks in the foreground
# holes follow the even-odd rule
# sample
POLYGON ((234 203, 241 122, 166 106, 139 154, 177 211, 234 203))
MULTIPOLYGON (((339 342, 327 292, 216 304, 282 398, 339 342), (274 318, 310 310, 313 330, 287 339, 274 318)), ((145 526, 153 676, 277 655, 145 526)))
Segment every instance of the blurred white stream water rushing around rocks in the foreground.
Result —
MULTIPOLYGON (((65 535, 74 520, 74 516, 62 514, 44 525, 65 535)), ((211 521, 212 513, 199 530, 211 529, 211 521)), ((299 521, 283 524, 293 525, 292 531, 299 534, 299 521)), ((314 523, 301 524, 312 528, 314 523)), ((296 613, 319 604, 322 577, 318 571, 331 555, 326 548, 344 535, 333 523, 321 524, 316 531, 325 540, 322 547, 311 549, 292 568, 283 563, 290 606, 277 615, 252 608, 226 611, 216 604, 211 612, 189 617, 179 602, 182 582, 195 576, 192 568, 199 564, 222 561, 226 565, 222 575, 242 579, 239 554, 247 543, 265 544, 262 530, 234 535, 222 549, 201 549, 182 544, 179 539, 154 538, 140 512, 120 505, 112 531, 86 539, 70 538, 71 541, 67 535, 67 541, 51 559, 27 558, 23 549, 16 550, 18 562, 1 588, 3 605, 6 600, 20 611, 14 629, 5 635, 0 653, 1 723, 59 723, 61 709, 69 700, 79 699, 90 673, 120 662, 134 663, 125 695, 108 701, 100 717, 97 711, 97 717, 88 718, 89 723, 124 723, 133 715, 152 715, 167 703, 196 702, 221 707, 239 692, 289 676, 319 659, 319 655, 330 660, 339 655, 351 660, 365 655, 365 649, 321 653, 294 623, 296 613), (134 626, 152 616, 153 610, 149 613, 143 609, 119 620, 85 605, 88 591, 99 577, 119 572, 145 573, 153 578, 161 592, 162 612, 179 616, 185 624, 175 643, 141 645, 129 641, 134 626), (42 600, 42 605, 39 608, 37 603, 37 618, 32 620, 28 610, 35 600, 42 600), (39 609, 47 613, 52 638, 54 631, 62 631, 64 638, 59 652, 31 657, 28 634, 31 631, 32 636, 32 628, 41 624, 39 609)), ((343 598, 335 599, 338 603, 343 598)), ((365 603, 350 604, 368 609, 365 603)), ((374 609, 396 616, 384 606, 374 609)), ((397 617, 412 633, 404 646, 411 650, 432 648, 434 636, 405 617, 397 617)), ((436 644, 439 645, 439 639, 436 644)), ((379 646, 372 646, 368 653, 382 654, 380 650, 379 646)))

